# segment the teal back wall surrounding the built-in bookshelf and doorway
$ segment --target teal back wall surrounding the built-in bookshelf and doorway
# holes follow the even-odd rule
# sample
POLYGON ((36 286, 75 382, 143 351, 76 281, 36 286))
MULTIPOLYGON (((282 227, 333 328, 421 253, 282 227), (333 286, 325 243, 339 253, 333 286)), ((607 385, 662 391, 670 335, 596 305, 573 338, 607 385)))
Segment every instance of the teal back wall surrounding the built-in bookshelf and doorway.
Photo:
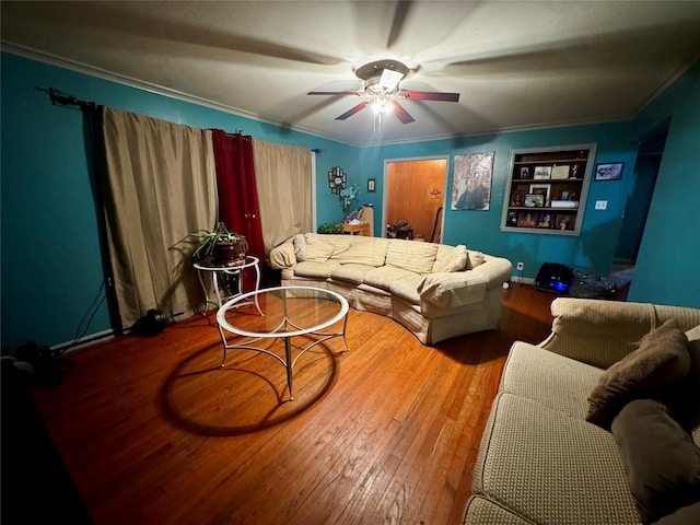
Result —
MULTIPOLYGON (((363 165, 360 170, 382 180, 385 159, 448 155, 443 242, 465 244, 472 249, 506 257, 514 266, 516 261, 523 261, 525 278, 534 278, 542 262, 561 262, 608 275, 622 224, 627 194, 632 183, 631 170, 618 182, 591 183, 580 236, 502 232, 500 222, 503 199, 513 149, 597 143, 594 163, 621 161, 626 166, 632 166, 637 144, 630 141, 630 125, 626 122, 375 147, 362 153, 363 165), (450 209, 453 155, 479 152, 494 152, 490 210, 453 211, 450 209), (594 210, 596 200, 607 200, 607 210, 594 210)), ((382 191, 382 188, 383 184, 380 184, 377 191, 382 191)), ((375 207, 375 217, 381 218, 381 202, 375 207)), ((380 220, 375 220, 375 223, 381 226, 380 220)))

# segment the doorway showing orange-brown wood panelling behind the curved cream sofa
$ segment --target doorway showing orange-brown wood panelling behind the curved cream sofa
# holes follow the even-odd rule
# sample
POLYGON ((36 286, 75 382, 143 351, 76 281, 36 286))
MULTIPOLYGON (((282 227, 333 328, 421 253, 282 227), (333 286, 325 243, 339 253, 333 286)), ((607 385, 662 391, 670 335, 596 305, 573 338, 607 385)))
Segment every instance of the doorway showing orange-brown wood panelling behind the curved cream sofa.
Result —
POLYGON ((447 158, 386 161, 385 236, 440 243, 447 179, 447 158), (402 224, 398 235, 393 226, 402 224))

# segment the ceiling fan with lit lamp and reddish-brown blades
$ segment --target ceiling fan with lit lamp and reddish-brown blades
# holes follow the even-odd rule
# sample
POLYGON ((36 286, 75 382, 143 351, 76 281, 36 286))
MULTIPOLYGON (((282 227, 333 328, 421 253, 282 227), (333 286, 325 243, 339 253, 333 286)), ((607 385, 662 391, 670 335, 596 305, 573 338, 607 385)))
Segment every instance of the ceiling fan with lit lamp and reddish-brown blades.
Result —
POLYGON ((355 75, 364 83, 364 89, 361 91, 311 91, 307 94, 363 96, 364 101, 348 109, 342 115, 337 116, 336 120, 345 120, 370 106, 375 115, 380 117, 380 126, 382 115, 389 112, 393 112, 402 124, 410 124, 416 120, 404 106, 399 104, 398 101, 401 100, 459 102, 459 93, 407 91, 399 89, 399 82, 409 71, 406 65, 397 60, 377 60, 365 63, 355 70, 355 75))

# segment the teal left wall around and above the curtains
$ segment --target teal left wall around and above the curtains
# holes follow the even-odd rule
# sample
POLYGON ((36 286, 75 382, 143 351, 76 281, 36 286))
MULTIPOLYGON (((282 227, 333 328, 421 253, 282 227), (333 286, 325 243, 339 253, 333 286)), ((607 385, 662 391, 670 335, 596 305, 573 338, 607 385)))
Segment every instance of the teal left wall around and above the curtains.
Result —
MULTIPOLYGON (((95 185, 86 156, 82 113, 54 106, 46 90, 201 128, 242 130, 255 139, 310 149, 318 173, 353 160, 353 149, 318 137, 246 119, 3 52, 1 57, 1 342, 71 341, 105 296, 95 185)), ((352 179, 352 177, 351 177, 352 179)), ((330 213, 327 183, 318 212, 330 213)), ((338 211, 338 213, 340 213, 338 211)), ((109 329, 106 304, 88 334, 109 329)))

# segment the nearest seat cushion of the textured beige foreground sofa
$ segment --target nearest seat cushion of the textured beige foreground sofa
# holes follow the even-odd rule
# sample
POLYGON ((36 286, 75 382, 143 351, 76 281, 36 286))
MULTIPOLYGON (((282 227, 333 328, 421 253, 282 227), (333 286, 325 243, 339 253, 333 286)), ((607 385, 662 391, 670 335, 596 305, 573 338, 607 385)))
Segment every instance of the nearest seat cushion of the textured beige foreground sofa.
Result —
POLYGON ((540 525, 638 522, 609 432, 510 393, 491 410, 475 493, 540 525))

